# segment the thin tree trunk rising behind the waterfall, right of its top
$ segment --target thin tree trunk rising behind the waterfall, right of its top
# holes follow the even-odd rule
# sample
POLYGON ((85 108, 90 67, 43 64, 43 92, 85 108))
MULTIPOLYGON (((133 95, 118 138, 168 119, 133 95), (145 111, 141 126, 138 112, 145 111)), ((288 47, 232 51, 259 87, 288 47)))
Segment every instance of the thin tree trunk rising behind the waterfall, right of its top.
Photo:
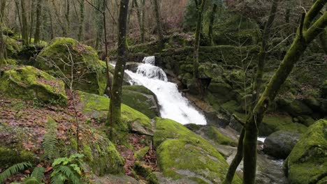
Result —
POLYGON ((194 43, 194 55, 193 55, 193 78, 198 79, 198 48, 200 47, 200 34, 202 27, 202 15, 203 8, 205 6, 205 0, 202 0, 200 7, 196 7, 198 17, 196 21, 196 37, 194 43))

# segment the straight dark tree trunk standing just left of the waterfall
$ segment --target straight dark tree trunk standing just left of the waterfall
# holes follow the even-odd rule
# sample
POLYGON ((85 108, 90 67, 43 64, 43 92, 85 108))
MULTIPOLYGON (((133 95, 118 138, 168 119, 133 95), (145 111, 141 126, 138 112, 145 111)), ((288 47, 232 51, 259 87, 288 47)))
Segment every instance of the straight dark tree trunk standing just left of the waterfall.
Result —
MULTIPOLYGON (((118 23, 118 55, 115 66, 115 73, 112 82, 112 91, 110 99, 110 124, 112 126, 121 125, 121 102, 122 102, 122 82, 124 78, 124 69, 127 60, 126 50, 126 23, 129 10, 129 0, 121 0, 119 8, 119 23, 118 23)), ((112 135, 112 132, 110 132, 112 135)))

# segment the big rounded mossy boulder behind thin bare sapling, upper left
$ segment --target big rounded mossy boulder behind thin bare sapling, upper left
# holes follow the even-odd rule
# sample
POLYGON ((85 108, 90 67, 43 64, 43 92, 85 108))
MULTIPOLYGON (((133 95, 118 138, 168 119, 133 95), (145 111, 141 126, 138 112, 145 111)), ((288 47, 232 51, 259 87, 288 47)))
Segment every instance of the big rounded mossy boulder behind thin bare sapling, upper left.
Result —
POLYGON ((54 38, 45 47, 35 62, 36 68, 49 71, 58 77, 71 77, 71 62, 73 61, 73 75, 75 89, 89 93, 103 94, 106 88, 106 63, 99 61, 95 49, 78 43, 72 38, 54 38), (65 63, 68 63, 66 65, 65 63), (60 70, 61 71, 60 71, 60 70))

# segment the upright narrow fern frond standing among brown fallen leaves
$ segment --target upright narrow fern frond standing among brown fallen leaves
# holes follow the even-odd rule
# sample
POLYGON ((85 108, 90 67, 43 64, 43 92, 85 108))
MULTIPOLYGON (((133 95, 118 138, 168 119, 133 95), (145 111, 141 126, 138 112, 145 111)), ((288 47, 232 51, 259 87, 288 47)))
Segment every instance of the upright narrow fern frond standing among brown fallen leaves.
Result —
POLYGON ((51 160, 57 147, 57 124, 52 118, 49 118, 46 126, 46 133, 42 141, 43 156, 45 159, 51 160))

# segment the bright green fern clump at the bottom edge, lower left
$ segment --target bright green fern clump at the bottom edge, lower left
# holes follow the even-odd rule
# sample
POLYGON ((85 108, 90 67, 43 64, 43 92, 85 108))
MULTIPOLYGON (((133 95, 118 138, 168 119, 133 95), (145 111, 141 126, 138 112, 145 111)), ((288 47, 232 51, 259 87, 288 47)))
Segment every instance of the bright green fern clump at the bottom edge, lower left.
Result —
POLYGON ((52 163, 51 183, 61 184, 68 183, 79 184, 83 183, 80 179, 82 175, 82 163, 80 158, 84 155, 74 154, 69 158, 57 158, 52 163))

